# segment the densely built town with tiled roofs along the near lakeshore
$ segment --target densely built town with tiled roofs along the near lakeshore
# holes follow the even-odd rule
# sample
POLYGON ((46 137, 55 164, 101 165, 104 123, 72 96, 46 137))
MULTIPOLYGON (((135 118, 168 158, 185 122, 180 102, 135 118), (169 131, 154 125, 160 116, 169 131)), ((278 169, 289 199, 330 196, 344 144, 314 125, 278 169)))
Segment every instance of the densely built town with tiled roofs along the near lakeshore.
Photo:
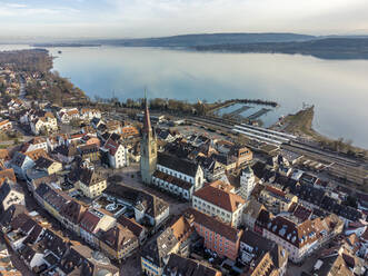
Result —
POLYGON ((367 275, 361 158, 209 111, 246 99, 93 101, 47 51, 0 61, 1 275, 367 275))

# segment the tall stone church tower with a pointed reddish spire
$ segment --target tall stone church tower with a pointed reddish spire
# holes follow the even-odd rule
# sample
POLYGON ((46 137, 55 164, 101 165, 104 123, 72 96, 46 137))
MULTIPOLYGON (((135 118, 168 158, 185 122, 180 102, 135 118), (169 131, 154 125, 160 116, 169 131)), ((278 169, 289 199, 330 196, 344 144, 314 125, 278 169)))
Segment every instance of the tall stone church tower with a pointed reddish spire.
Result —
POLYGON ((157 138, 151 127, 147 98, 145 97, 145 117, 140 142, 140 174, 145 184, 150 184, 157 164, 157 138))

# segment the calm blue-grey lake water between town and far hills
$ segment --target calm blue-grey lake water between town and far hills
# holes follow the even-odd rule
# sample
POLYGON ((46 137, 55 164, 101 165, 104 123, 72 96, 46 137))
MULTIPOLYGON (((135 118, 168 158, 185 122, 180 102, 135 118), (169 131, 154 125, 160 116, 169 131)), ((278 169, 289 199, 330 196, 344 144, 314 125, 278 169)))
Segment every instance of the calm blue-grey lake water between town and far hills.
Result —
POLYGON ((317 131, 368 148, 368 60, 122 47, 49 50, 58 56, 54 69, 90 97, 140 98, 147 87, 149 98, 279 102, 260 118, 266 126, 305 102, 315 105, 317 131))

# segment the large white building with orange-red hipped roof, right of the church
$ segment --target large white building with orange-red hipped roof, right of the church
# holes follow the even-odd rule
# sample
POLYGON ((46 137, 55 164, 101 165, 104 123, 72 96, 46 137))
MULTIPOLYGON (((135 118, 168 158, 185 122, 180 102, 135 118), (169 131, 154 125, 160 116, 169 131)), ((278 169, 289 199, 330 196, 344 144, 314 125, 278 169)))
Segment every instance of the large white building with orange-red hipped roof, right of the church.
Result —
POLYGON ((193 195, 192 207, 226 224, 239 227, 246 200, 233 194, 232 186, 221 180, 205 185, 193 195))

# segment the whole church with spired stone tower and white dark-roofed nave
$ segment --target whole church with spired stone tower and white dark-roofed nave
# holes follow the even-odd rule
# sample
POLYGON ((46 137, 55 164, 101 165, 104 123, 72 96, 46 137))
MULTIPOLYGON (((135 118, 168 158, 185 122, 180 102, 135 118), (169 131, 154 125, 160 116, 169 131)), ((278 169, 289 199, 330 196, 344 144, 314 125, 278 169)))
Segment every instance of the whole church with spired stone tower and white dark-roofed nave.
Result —
POLYGON ((157 152, 157 137, 151 126, 147 99, 140 149, 140 172, 145 184, 185 200, 191 200, 195 191, 203 186, 205 175, 198 164, 157 152))

